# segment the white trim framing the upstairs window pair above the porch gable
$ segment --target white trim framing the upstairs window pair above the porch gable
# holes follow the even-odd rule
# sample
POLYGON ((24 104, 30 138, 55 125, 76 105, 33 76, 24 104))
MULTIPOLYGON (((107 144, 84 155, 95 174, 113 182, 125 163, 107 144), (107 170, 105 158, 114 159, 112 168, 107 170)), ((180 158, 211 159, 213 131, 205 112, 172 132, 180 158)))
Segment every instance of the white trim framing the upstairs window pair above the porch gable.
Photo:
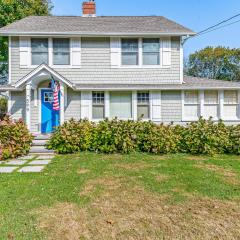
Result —
MULTIPOLYGON (((29 58, 30 60, 28 61, 29 62, 29 65, 26 66, 26 67, 21 67, 21 68, 37 68, 39 65, 32 65, 32 52, 31 52, 31 39, 34 38, 34 37, 29 37, 29 49, 28 49, 28 52, 29 52, 29 58)), ((55 69, 59 69, 59 68, 80 68, 80 66, 73 66, 72 65, 72 54, 73 54, 73 51, 72 51, 72 38, 71 37, 39 37, 39 38, 47 38, 48 39, 48 65, 52 68, 55 68, 55 69), (53 65, 53 39, 55 38, 66 38, 66 39, 69 39, 70 41, 70 65, 53 65)))

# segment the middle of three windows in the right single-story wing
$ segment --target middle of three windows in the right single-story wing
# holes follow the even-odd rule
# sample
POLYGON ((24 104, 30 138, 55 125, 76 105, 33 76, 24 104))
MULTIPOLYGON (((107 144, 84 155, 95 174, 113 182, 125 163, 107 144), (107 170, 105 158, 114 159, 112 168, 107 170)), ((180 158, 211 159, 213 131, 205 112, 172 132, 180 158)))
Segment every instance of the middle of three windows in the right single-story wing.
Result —
POLYGON ((212 117, 217 119, 219 115, 218 111, 218 91, 205 91, 204 92, 204 118, 208 119, 212 117))

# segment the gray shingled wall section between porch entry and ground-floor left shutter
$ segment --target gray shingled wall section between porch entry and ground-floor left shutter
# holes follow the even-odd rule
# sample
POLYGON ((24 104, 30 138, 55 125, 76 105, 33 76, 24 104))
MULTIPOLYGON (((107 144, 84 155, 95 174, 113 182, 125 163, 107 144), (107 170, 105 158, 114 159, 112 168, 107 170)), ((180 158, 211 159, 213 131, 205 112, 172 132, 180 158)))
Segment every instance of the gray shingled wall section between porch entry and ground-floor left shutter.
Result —
POLYGON ((65 106, 65 121, 74 118, 79 120, 81 118, 81 92, 74 92, 67 90, 67 106, 65 106))

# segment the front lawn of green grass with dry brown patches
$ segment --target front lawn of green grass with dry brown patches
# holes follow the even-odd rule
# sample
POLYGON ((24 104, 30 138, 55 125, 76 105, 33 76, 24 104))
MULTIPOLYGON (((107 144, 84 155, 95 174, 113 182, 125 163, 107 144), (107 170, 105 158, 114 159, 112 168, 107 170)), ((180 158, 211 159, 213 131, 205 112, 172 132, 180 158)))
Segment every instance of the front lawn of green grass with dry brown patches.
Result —
POLYGON ((239 239, 240 157, 57 156, 0 199, 0 239, 239 239))

